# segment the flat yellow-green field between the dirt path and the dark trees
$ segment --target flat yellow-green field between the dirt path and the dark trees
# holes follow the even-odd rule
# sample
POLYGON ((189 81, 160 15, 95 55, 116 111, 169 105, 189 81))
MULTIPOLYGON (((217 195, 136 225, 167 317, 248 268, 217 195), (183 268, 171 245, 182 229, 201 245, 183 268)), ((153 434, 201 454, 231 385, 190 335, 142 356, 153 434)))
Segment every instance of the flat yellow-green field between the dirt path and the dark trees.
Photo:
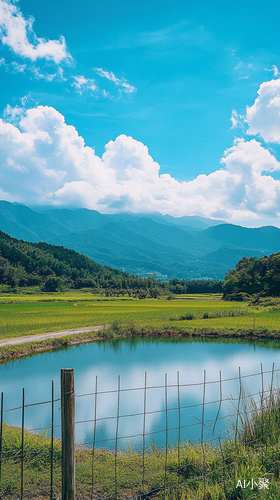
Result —
POLYGON ((153 330, 280 331, 280 310, 225 302, 217 295, 176 300, 112 300, 90 293, 0 296, 2 339, 116 322, 153 330))

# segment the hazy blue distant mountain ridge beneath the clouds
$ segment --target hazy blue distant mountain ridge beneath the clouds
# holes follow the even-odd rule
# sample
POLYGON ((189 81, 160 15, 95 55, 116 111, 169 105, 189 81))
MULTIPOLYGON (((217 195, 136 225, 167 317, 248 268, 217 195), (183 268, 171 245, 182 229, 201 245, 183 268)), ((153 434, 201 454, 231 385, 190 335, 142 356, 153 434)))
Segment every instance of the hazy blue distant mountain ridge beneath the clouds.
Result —
POLYGON ((280 229, 245 228, 202 217, 48 209, 0 201, 0 229, 83 253, 102 265, 165 279, 224 279, 244 256, 280 251, 280 229), (189 224, 189 225, 188 225, 189 224))

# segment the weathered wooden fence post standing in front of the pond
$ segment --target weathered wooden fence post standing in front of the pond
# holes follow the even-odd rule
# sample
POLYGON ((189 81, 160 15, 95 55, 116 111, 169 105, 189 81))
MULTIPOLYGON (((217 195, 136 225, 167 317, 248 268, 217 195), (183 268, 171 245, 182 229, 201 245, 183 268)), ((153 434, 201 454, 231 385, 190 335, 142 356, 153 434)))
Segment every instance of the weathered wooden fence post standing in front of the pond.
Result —
POLYGON ((61 370, 62 500, 75 500, 74 370, 61 370))

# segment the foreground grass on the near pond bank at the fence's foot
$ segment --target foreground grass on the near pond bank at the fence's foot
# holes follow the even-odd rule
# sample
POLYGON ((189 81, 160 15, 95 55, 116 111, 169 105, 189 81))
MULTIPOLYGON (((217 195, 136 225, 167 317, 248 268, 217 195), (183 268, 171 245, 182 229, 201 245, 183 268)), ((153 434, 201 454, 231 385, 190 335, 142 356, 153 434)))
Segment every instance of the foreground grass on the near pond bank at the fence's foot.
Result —
MULTIPOLYGON (((246 399, 248 400, 248 398, 246 399)), ((190 442, 167 450, 151 447, 143 453, 130 448, 76 451, 77 498, 125 499, 155 491, 157 498, 175 500, 280 499, 280 430, 279 392, 266 400, 262 410, 251 398, 240 419, 237 442, 228 439, 218 443, 190 442), (255 411, 252 411, 252 410, 255 411), (144 472, 143 472, 144 463, 144 472), (206 480, 203 476, 206 475, 206 480), (258 488, 259 478, 269 480, 269 489, 258 488), (253 489, 237 488, 237 483, 253 489), (161 491, 163 486, 166 492, 161 491), (158 491, 157 491, 158 490, 158 491)), ((244 410, 244 408, 243 408, 244 410)), ((50 438, 24 434, 24 494, 26 498, 49 498, 50 438)), ((54 498, 61 498, 61 443, 54 440, 54 498)), ((21 430, 4 424, 2 456, 2 497, 17 498, 20 492, 21 430)), ((146 497, 148 498, 148 496, 146 497)))

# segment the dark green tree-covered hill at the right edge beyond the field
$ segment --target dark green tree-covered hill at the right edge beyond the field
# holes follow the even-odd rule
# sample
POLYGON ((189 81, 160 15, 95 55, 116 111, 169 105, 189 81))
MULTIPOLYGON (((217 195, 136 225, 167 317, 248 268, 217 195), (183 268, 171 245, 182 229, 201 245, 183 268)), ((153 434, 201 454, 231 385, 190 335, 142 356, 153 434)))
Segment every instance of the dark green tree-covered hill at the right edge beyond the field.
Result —
POLYGON ((246 296, 280 295, 280 252, 269 257, 243 257, 228 271, 223 286, 224 298, 242 300, 246 296))

